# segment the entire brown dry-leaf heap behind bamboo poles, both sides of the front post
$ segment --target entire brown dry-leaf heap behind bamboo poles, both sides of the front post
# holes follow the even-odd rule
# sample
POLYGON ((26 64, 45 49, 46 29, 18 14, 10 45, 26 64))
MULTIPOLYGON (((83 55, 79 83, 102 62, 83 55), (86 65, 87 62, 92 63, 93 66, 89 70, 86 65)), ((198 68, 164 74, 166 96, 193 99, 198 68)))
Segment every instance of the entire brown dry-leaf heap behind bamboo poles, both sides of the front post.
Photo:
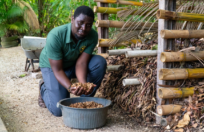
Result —
MULTIPOLYGON (((182 43, 182 42, 181 42, 182 43)), ((187 48, 183 43, 176 45, 178 50, 187 48)), ((204 41, 192 43, 199 51, 204 50, 204 41)), ((142 45, 141 49, 151 49, 150 45, 142 45)), ((171 52, 169 50, 169 52, 171 52)), ((108 65, 123 65, 118 71, 107 72, 99 91, 102 96, 110 99, 120 106, 129 117, 138 123, 150 125, 155 123, 156 112, 156 77, 157 57, 125 58, 124 55, 109 56, 106 58, 108 65), (141 85, 123 86, 125 78, 139 78, 141 85)), ((174 68, 203 68, 198 62, 174 62, 174 68)), ((162 104, 179 104, 183 108, 180 113, 166 116, 168 125, 160 127, 161 131, 197 131, 204 126, 204 79, 176 80, 168 83, 174 87, 196 87, 192 97, 184 99, 163 100, 162 104), (203 83, 202 83, 203 82, 203 83), (202 85, 198 85, 202 84, 202 85)), ((165 86, 164 86, 165 87, 165 86)), ((155 125, 156 126, 156 125, 155 125)))

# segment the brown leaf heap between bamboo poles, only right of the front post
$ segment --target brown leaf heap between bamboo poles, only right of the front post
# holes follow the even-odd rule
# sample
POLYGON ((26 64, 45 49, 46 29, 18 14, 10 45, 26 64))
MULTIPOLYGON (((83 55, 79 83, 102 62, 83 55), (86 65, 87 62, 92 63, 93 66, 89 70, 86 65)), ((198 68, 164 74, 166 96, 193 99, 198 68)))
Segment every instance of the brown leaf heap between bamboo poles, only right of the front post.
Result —
MULTIPOLYGON (((197 51, 204 51, 203 39, 191 42, 192 46, 196 47, 197 51)), ((182 44, 176 44, 177 50, 188 48, 182 44)), ((204 65, 199 61, 173 63, 175 68, 203 68, 204 65)), ((193 96, 183 99, 169 99, 170 104, 182 105, 179 113, 168 115, 165 118, 168 125, 164 131, 175 132, 197 132, 204 131, 204 79, 187 79, 172 81, 171 85, 176 87, 195 87, 193 96)), ((164 101, 165 102, 165 101, 164 101)), ((165 103, 164 103, 165 104, 165 103)))

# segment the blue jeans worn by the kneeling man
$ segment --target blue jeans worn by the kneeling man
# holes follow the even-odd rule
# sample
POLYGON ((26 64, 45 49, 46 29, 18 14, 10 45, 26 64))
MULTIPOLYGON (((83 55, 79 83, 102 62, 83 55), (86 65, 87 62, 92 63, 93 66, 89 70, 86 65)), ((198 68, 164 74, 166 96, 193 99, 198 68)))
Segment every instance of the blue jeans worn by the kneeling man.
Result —
MULTIPOLYGON (((81 97, 93 97, 96 90, 101 85, 101 81, 106 72, 106 60, 93 55, 88 64, 87 82, 96 84, 94 91, 90 95, 81 95, 81 97)), ((69 98, 69 92, 57 81, 51 68, 41 68, 44 84, 41 86, 41 96, 48 110, 55 116, 62 116, 62 112, 56 107, 57 102, 64 98, 69 98)), ((64 70, 69 79, 76 78, 75 66, 64 70)))

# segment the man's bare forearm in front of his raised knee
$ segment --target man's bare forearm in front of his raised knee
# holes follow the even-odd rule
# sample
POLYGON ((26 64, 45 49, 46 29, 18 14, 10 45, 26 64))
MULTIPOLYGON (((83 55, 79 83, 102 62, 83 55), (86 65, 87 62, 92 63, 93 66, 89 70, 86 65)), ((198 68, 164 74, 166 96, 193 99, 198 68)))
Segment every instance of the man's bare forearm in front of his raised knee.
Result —
POLYGON ((87 64, 76 64, 76 76, 79 82, 86 83, 87 76, 87 64))

